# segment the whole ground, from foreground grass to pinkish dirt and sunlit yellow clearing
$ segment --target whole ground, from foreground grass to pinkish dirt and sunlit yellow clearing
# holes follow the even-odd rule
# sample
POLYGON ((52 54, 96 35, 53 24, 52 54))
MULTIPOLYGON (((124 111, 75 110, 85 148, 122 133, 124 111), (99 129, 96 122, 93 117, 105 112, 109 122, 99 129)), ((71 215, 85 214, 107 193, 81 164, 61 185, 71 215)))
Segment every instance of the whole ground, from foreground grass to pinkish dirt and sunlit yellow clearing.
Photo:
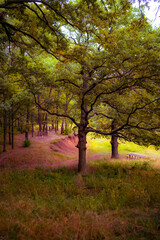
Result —
POLYGON ((84 175, 73 136, 29 136, 25 148, 23 134, 1 151, 0 240, 160 239, 160 150, 126 142, 115 160, 110 140, 92 137, 84 175))

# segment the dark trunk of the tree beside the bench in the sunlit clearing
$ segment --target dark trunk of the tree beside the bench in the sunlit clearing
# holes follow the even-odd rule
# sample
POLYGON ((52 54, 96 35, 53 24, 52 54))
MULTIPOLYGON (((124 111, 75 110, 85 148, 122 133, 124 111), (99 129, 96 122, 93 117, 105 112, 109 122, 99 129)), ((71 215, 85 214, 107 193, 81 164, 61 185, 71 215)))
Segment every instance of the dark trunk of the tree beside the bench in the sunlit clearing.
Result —
MULTIPOLYGON (((111 125, 112 131, 116 129, 116 120, 112 121, 111 125)), ((118 137, 116 134, 111 136, 111 148, 112 148, 112 155, 111 158, 119 158, 118 154, 118 137)))

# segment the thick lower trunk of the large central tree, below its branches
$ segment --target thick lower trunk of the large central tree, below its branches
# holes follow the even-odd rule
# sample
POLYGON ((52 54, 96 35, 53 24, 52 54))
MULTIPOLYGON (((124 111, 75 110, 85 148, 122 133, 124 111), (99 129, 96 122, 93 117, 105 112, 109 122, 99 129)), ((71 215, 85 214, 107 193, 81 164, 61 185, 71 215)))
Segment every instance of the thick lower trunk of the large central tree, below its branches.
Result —
POLYGON ((78 148, 79 148, 79 162, 78 172, 84 173, 86 171, 86 133, 83 130, 78 130, 78 148))

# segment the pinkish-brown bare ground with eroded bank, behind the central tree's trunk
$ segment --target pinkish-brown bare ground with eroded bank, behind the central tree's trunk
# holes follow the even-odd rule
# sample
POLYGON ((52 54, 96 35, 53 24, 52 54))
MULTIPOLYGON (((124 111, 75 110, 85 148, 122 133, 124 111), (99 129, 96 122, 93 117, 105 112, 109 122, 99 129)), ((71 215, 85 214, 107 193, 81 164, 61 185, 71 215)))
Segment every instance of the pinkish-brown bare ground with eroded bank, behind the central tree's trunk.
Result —
MULTIPOLYGON (((29 136, 30 147, 22 147, 24 134, 15 137, 15 148, 7 145, 7 152, 0 153, 0 168, 35 169, 37 167, 59 168, 78 165, 78 139, 49 132, 48 136, 29 136)), ((102 159, 104 154, 87 151, 87 161, 102 159)))

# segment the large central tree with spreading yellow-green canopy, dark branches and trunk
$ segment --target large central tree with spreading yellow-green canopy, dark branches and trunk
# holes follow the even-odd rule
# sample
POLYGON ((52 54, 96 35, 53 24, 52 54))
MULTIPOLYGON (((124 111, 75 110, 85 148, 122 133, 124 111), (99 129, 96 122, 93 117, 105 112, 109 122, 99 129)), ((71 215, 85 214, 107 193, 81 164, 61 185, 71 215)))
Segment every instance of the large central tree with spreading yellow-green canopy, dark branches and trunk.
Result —
POLYGON ((79 172, 89 132, 159 144, 160 32, 130 1, 1 1, 0 9, 21 86, 78 128, 79 172))

